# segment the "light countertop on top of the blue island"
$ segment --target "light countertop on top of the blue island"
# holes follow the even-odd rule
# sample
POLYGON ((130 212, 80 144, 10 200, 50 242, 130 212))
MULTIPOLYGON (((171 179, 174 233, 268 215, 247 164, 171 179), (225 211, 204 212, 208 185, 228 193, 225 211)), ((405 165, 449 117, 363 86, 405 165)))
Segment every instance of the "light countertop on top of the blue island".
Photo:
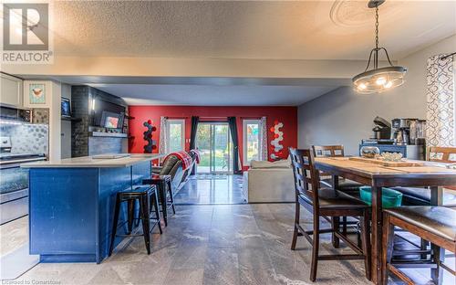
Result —
POLYGON ((139 164, 142 162, 160 159, 163 156, 165 156, 165 154, 161 154, 161 153, 151 153, 151 154, 129 153, 128 156, 119 157, 119 158, 99 158, 98 155, 82 156, 82 157, 66 158, 66 159, 60 159, 60 160, 51 160, 51 161, 46 161, 46 162, 26 163, 26 164, 21 164, 21 167, 23 167, 23 168, 127 167, 127 166, 131 166, 133 164, 139 164))

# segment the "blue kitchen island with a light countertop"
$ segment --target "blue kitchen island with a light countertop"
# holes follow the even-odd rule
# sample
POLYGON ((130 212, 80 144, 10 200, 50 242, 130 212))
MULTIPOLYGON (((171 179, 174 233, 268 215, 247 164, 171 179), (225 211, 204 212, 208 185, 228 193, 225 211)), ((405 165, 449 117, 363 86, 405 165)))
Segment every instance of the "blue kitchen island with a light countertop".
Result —
MULTIPOLYGON (((101 262, 109 253, 116 194, 150 177, 151 161, 162 156, 87 156, 21 164, 29 169, 30 254, 40 255, 41 262, 101 262)), ((125 214, 126 208, 119 220, 125 220, 125 214)))

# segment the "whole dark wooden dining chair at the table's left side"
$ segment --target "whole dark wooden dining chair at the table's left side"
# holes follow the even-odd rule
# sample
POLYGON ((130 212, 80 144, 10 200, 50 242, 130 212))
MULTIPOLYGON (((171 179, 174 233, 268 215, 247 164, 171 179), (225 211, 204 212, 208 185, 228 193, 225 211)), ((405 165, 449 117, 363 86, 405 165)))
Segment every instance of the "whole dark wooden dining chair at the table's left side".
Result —
MULTIPOLYGON (((290 148, 290 156, 295 177, 295 231, 291 249, 295 250, 297 237, 306 237, 312 245, 312 263, 310 280, 316 280, 318 260, 364 259, 366 277, 370 280, 370 234, 369 206, 358 199, 338 190, 320 187, 319 172, 314 167, 314 153, 310 150, 290 148), (312 230, 306 230, 300 225, 301 206, 313 214, 312 230), (362 247, 359 248, 347 236, 340 232, 337 225, 331 228, 320 228, 320 217, 359 216, 361 219, 362 247), (319 235, 333 233, 342 239, 355 254, 319 255, 319 235)), ((338 221, 338 218, 335 219, 338 221)), ((333 220, 334 221, 334 220, 333 220)))

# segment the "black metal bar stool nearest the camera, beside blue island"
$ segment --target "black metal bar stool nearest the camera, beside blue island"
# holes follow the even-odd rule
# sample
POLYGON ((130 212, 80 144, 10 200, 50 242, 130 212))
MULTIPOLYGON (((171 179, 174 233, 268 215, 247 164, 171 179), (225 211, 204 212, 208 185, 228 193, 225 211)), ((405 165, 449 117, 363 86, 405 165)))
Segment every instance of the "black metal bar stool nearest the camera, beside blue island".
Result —
POLYGON ((116 237, 144 237, 144 242, 146 244, 147 254, 150 254, 150 232, 153 228, 158 225, 160 234, 161 231, 161 224, 160 224, 160 212, 159 212, 159 205, 157 199, 157 188, 155 185, 150 186, 133 186, 131 190, 119 192, 116 196, 116 207, 114 210, 114 220, 112 225, 112 233, 111 233, 111 243, 109 246, 109 256, 112 254, 112 250, 114 249, 114 242, 116 237), (135 204, 136 201, 140 202, 140 217, 135 218, 135 204), (120 213, 120 206, 123 202, 128 203, 128 211, 127 211, 127 221, 124 221, 121 225, 119 225, 119 213, 120 213), (151 205, 151 206, 150 206, 151 205), (154 224, 150 228, 150 212, 152 210, 152 206, 155 210, 155 217, 154 224), (133 227, 133 220, 140 220, 142 223, 142 234, 131 234, 132 227, 133 227), (118 235, 117 229, 120 226, 128 224, 128 232, 125 235, 118 235))

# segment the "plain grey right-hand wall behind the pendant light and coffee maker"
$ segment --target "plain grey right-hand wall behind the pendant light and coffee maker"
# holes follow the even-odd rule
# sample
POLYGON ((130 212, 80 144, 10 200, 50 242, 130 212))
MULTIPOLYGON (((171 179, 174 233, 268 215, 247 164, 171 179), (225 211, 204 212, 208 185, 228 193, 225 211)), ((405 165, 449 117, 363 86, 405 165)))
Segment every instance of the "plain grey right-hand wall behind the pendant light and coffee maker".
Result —
POLYGON ((312 144, 344 144, 347 154, 358 154, 358 143, 372 135, 378 115, 426 119, 426 63, 430 56, 456 51, 456 35, 426 47, 399 65, 409 69, 406 82, 395 90, 361 95, 341 87, 298 108, 298 147, 312 144))

